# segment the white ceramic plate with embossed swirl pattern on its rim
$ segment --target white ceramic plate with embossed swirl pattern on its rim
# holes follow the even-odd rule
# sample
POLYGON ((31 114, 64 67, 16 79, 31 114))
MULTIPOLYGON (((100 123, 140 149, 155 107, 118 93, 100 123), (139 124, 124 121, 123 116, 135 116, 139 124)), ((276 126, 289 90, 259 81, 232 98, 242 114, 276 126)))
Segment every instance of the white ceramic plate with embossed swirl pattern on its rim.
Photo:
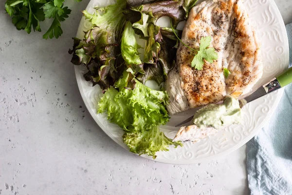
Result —
MULTIPOLYGON (((93 7, 106 6, 112 3, 114 1, 111 0, 91 0, 86 10, 93 13, 93 7)), ((262 43, 264 73, 260 83, 257 83, 258 87, 288 67, 288 38, 284 22, 273 0, 244 0, 244 3, 262 43)), ((80 21, 77 37, 83 39, 83 32, 89 28, 91 28, 91 24, 83 17, 80 21)), ((78 87, 87 109, 101 129, 115 142, 128 150, 127 145, 122 141, 123 130, 110 123, 106 114, 96 114, 94 104, 99 101, 103 94, 99 86, 92 87, 91 82, 85 81, 83 78, 85 72, 85 67, 75 66, 78 87)), ((283 90, 280 89, 244 106, 242 109, 244 123, 242 125, 232 125, 215 136, 197 143, 186 142, 183 147, 176 149, 170 146, 168 152, 157 153, 155 160, 165 163, 190 164, 209 160, 236 150, 254 137, 261 127, 268 122, 282 93, 283 90)), ((161 130, 167 137, 173 138, 178 130, 174 125, 187 117, 172 117, 167 125, 161 127, 161 130)), ((143 157, 153 159, 151 156, 143 157)))

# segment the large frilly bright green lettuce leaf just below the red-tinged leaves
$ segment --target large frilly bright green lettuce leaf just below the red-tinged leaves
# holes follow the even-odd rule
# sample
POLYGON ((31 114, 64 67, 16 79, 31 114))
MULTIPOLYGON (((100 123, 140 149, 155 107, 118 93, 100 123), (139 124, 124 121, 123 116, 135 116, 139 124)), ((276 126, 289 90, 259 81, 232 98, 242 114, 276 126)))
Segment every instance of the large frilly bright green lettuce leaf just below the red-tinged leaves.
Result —
POLYGON ((98 102, 98 113, 107 111, 108 119, 126 131, 145 131, 153 126, 166 124, 169 119, 165 109, 168 101, 166 92, 152 90, 134 78, 135 88, 129 90, 128 84, 132 82, 130 75, 131 73, 124 73, 115 83, 119 91, 110 87, 105 92, 98 102))

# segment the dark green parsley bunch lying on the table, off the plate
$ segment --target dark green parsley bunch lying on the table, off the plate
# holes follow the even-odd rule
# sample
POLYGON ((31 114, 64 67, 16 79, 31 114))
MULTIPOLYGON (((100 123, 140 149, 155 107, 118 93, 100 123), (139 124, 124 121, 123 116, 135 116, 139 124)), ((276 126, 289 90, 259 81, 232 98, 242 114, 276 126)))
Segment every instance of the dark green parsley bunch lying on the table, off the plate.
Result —
MULTIPOLYGON (((77 0, 78 2, 81 0, 77 0)), ((28 34, 41 32, 40 21, 53 19, 53 22, 43 39, 60 37, 63 33, 61 21, 68 18, 71 10, 63 7, 64 0, 7 0, 5 10, 12 18, 12 23, 18 30, 25 30, 28 34)))

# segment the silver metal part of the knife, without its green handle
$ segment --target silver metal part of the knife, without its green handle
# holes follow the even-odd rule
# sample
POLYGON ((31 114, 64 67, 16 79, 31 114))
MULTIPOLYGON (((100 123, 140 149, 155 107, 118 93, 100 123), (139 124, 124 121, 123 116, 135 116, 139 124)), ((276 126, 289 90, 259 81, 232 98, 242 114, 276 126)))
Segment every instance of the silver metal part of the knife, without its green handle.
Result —
MULTIPOLYGON (((276 78, 273 78, 272 81, 260 86, 255 92, 253 92, 249 96, 239 99, 238 100, 239 106, 240 106, 240 108, 242 108, 245 104, 247 104, 247 103, 249 103, 257 98, 263 97, 263 96, 267 95, 268 93, 271 93, 279 88, 281 88, 280 83, 278 82, 278 80, 276 78)), ((199 107, 198 109, 196 109, 196 112, 201 108, 202 107, 199 107)), ((190 122, 193 119, 193 117, 194 116, 187 118, 183 122, 177 124, 175 127, 179 127, 187 122, 190 122)))

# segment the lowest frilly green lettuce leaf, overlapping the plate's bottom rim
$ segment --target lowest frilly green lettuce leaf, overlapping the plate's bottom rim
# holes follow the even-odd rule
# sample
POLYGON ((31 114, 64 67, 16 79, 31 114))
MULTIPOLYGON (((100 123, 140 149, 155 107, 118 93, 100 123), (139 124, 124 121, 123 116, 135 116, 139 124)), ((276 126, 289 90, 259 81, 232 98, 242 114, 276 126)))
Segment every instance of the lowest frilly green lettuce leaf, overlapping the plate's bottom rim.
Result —
POLYGON ((156 158, 155 153, 158 151, 169 151, 168 146, 182 146, 181 142, 173 142, 159 130, 158 126, 153 127, 150 131, 144 132, 125 132, 123 141, 130 149, 130 152, 139 155, 146 154, 156 158))

